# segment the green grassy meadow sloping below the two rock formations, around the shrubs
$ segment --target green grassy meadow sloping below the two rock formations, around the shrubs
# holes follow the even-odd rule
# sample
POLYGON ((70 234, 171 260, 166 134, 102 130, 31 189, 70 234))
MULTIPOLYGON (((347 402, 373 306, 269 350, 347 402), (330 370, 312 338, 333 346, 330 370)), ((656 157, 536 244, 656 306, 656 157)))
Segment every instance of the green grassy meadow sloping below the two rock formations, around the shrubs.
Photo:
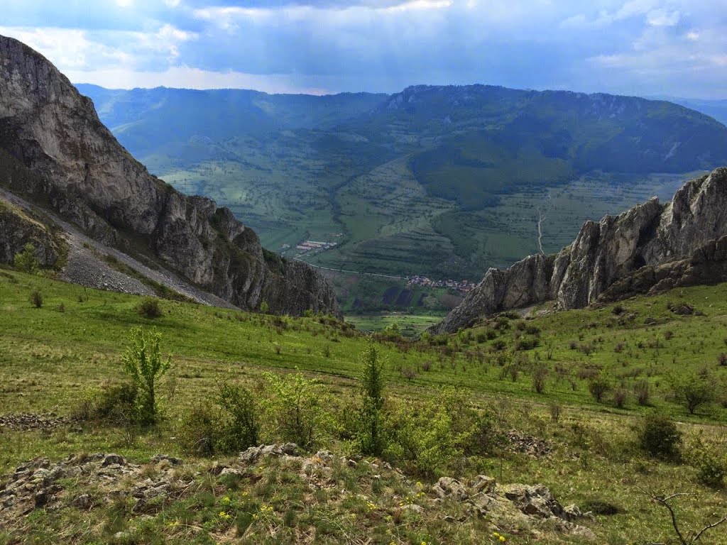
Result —
MULTIPOLYGON (((585 310, 553 312, 539 307, 530 309, 526 318, 507 313, 458 334, 425 334, 419 340, 402 334, 422 331, 434 316, 410 319, 389 314, 341 323, 325 316, 290 318, 161 300, 161 316, 145 318, 137 312, 139 302, 137 296, 0 270, 0 397, 4 413, 0 416, 79 414, 84 400, 124 380, 121 355, 129 344, 131 328, 156 329, 161 333, 162 352, 172 358, 172 367, 158 384, 158 424, 132 437, 118 424, 87 420, 50 430, 3 429, 2 472, 36 456, 61 459, 94 451, 114 451, 142 462, 161 452, 204 467, 209 462, 188 452, 178 439, 185 415, 203 400, 212 403, 225 382, 247 387, 260 400, 267 399, 267 373, 293 376, 290 374, 297 370, 318 381, 321 395, 329 399, 324 410, 332 421, 342 422, 339 419, 345 419, 342 415, 356 406, 361 395, 361 354, 373 342, 385 362, 386 413, 401 418, 403 407, 423 408, 429 406, 427 403, 436 407, 443 395, 450 395, 447 388, 454 388, 449 391, 458 392, 472 410, 491 419, 493 437, 515 430, 550 445, 549 453, 535 457, 518 451, 507 440, 494 439, 493 446, 481 456, 459 458, 453 451, 434 469, 424 472, 416 461, 401 458, 401 454, 382 454, 385 460, 401 465, 412 480, 421 481, 425 491, 439 475, 466 479, 485 474, 502 483, 544 483, 565 503, 595 506, 595 522, 583 523, 596 533, 598 543, 608 544, 674 541, 667 511, 645 491, 694 493, 678 503, 683 528, 702 528, 724 511, 726 492, 702 482, 699 456, 715 453, 715 459, 722 460, 719 463, 727 464, 727 284, 684 288, 585 310), (41 307, 31 304, 34 291, 41 294, 41 307), (693 312, 683 315, 672 311, 681 308, 693 312), (384 332, 373 336, 359 331, 382 328, 384 332), (542 379, 540 392, 537 377, 542 379), (603 392, 596 400, 593 384, 599 381, 603 392), (708 399, 693 412, 678 387, 684 381, 705 384, 709 390, 708 399), (680 459, 654 458, 639 447, 638 430, 651 413, 678 423, 683 434, 680 459)), ((327 448, 361 460, 340 426, 344 424, 317 436, 309 448, 312 452, 327 448)), ((275 443, 277 433, 264 424, 262 441, 275 443)), ((275 483, 281 475, 275 464, 261 471, 268 478, 261 483, 275 483)), ((369 484, 354 485, 363 475, 357 471, 339 467, 335 478, 343 488, 360 486, 356 490, 373 498, 371 501, 383 511, 355 511, 356 522, 345 529, 314 532, 318 541, 364 543, 366 536, 375 535, 371 542, 389 543, 385 541, 390 539, 387 530, 394 528, 398 528, 394 542, 403 544, 446 544, 453 539, 474 544, 490 535, 486 533, 489 527, 476 518, 467 518, 453 533, 453 527, 443 522, 443 517, 455 509, 449 504, 432 507, 435 510, 430 517, 400 519, 395 525, 398 507, 392 504, 392 488, 387 487, 403 485, 392 482, 384 488, 371 488, 370 476, 361 481, 369 484)), ((196 478, 202 483, 206 477, 196 478)), ((413 485, 410 482, 408 486, 413 485)), ((277 501, 273 501, 270 486, 241 483, 230 491, 224 485, 214 485, 204 488, 207 499, 199 512, 217 513, 223 496, 232 494, 233 499, 242 501, 244 493, 263 503, 277 501)), ((303 503, 308 501, 301 491, 290 489, 289 493, 303 503)), ((201 529, 188 528, 186 533, 164 522, 169 520, 164 518, 167 514, 182 509, 180 505, 187 509, 199 499, 196 495, 181 498, 181 503, 170 499, 161 511, 145 518, 129 512, 124 528, 134 536, 142 535, 140 528, 145 529, 143 535, 147 537, 137 542, 207 543, 233 538, 234 528, 225 538, 215 533, 217 527, 208 528, 201 522, 190 522, 201 529)), ((430 505, 427 501, 425 492, 422 505, 430 505)), ((283 519, 291 509, 294 515, 286 516, 297 517, 300 526, 293 528, 303 533, 323 519, 342 517, 353 509, 340 498, 321 496, 316 500, 316 517, 304 517, 303 503, 275 504, 279 520, 271 522, 270 528, 277 528, 276 532, 256 534, 250 542, 289 542, 296 533, 283 519)), ((97 525, 87 532, 76 531, 80 524, 76 513, 70 507, 57 512, 36 511, 31 520, 20 520, 15 530, 0 532, 0 542, 52 542, 52 528, 71 536, 68 542, 114 541, 103 530, 103 517, 108 516, 105 509, 87 514, 97 525), (25 529, 24 538, 19 537, 19 528, 25 529)), ((714 530, 704 542, 726 543, 723 536, 714 530)), ((508 533, 507 541, 579 542, 557 532, 540 534, 539 538, 528 532, 508 533)))

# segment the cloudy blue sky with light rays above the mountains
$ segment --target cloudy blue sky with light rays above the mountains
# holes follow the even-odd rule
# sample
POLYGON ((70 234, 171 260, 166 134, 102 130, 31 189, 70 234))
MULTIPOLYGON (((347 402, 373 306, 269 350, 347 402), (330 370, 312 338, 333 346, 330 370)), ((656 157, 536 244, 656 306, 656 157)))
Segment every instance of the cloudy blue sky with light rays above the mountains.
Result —
POLYGON ((2 0, 0 34, 107 87, 497 84, 727 99, 726 0, 2 0))

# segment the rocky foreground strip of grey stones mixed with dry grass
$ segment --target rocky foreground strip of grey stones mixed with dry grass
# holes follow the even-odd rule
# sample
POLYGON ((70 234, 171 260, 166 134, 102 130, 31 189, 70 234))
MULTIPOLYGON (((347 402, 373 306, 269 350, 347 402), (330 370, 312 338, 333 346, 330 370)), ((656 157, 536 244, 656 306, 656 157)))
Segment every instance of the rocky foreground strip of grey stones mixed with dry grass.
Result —
MULTIPOLYGON (((581 512, 575 505, 563 507, 543 485, 503 485, 491 477, 478 475, 473 480, 441 477, 427 488, 422 483, 411 482, 386 462, 341 458, 329 451, 306 456, 292 443, 249 448, 236 459, 214 463, 185 462, 161 454, 146 464, 134 463, 115 453, 79 454, 55 462, 47 458, 33 459, 0 480, 0 527, 20 531, 30 520, 28 517, 37 517, 39 510, 47 514, 76 510, 92 517, 94 512, 119 501, 130 507, 130 521, 134 517, 153 520, 160 510, 163 514, 164 505, 198 491, 201 482, 229 483, 233 478, 242 487, 251 487, 263 478, 260 470, 264 466, 273 467, 272 459, 276 459, 278 471, 292 469, 294 478, 313 493, 335 491, 337 501, 344 504, 356 499, 348 496, 361 494, 339 491, 340 483, 334 471, 348 468, 353 472, 364 464, 371 480, 398 483, 398 492, 390 498, 391 507, 379 506, 373 498, 365 498, 372 511, 380 509, 382 514, 403 512, 438 517, 451 524, 474 517, 486 520, 491 532, 533 538, 543 532, 555 532, 582 540, 595 539, 593 530, 582 525, 584 521, 592 524, 593 516, 581 512)), ((272 511, 273 507, 264 509, 272 511)), ((133 538, 130 532, 121 531, 113 539, 128 541, 133 538)))

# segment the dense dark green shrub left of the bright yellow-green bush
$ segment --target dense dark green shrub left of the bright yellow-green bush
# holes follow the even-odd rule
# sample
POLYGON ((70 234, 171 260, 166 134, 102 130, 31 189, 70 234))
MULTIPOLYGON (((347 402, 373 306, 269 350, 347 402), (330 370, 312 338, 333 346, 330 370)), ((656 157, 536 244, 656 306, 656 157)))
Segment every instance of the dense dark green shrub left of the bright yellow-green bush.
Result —
POLYGON ((223 384, 218 403, 225 415, 220 422, 215 450, 236 453, 259 445, 260 422, 252 393, 235 384, 223 384))

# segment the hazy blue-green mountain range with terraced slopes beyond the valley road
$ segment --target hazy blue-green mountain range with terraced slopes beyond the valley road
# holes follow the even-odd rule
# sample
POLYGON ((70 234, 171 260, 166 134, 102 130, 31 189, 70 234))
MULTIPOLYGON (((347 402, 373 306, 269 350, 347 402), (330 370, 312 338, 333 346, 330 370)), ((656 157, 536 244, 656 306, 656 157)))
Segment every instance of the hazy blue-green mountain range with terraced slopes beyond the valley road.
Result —
POLYGON ((225 204, 270 249, 369 273, 476 280, 727 163, 723 124, 638 97, 79 89, 155 174, 225 204), (555 205, 584 185, 593 209, 555 205), (300 254, 306 240, 336 244, 300 254))

